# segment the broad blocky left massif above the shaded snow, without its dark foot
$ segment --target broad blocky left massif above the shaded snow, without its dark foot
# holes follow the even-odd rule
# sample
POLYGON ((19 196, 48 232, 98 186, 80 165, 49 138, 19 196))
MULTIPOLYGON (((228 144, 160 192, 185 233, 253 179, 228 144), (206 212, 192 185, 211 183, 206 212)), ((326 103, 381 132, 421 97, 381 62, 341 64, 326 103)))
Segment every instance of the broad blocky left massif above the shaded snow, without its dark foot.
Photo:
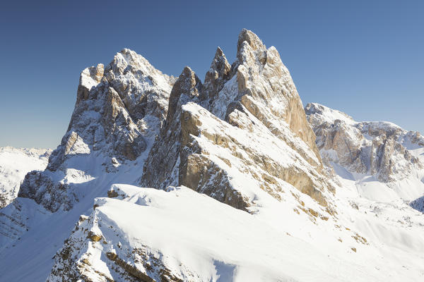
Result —
POLYGON ((129 49, 104 70, 102 64, 84 70, 68 131, 49 170, 59 168, 70 154, 90 154, 90 149, 122 160, 139 157, 146 149, 146 131, 160 127, 167 114, 174 81, 129 49))

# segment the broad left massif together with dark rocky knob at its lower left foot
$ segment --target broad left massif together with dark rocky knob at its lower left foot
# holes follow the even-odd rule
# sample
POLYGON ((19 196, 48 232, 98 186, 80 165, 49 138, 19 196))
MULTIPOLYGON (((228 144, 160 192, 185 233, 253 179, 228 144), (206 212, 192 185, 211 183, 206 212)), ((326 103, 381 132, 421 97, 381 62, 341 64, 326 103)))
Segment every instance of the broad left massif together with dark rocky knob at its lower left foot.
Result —
POLYGON ((71 209, 79 196, 66 176, 93 179, 150 149, 167 115, 174 82, 129 49, 117 53, 106 67, 86 68, 61 145, 46 171, 25 177, 19 197, 34 199, 52 212, 71 209))

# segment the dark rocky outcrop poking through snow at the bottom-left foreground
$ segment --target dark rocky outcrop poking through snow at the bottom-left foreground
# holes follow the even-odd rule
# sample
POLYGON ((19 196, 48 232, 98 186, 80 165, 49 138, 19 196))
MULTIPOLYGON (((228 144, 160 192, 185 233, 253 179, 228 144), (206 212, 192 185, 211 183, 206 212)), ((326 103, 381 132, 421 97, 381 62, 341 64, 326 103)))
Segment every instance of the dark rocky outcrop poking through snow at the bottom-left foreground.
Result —
MULTIPOLYGON (((104 202, 98 201, 96 207, 101 209, 104 202)), ((54 255, 55 264, 46 281, 183 281, 181 275, 170 271, 160 253, 146 245, 131 246, 122 240, 121 232, 98 209, 81 216, 54 255), (99 262, 106 268, 100 269, 99 262)))

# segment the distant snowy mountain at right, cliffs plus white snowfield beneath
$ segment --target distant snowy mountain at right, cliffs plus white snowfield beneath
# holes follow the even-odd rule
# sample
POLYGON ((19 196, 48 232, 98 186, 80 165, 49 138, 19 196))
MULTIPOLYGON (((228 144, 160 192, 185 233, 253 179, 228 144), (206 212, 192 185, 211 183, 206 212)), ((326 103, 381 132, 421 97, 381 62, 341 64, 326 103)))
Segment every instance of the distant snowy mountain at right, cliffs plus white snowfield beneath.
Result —
POLYGON ((320 104, 305 106, 327 166, 370 200, 413 201, 424 195, 424 137, 389 122, 353 121, 320 104))

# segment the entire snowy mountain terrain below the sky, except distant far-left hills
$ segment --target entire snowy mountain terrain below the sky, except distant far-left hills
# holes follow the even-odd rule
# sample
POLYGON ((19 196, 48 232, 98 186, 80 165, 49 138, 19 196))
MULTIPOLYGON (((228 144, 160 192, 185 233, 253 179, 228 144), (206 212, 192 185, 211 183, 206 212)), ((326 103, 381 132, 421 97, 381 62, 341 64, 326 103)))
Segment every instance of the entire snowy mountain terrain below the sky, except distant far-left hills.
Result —
POLYGON ((1 209, 0 280, 420 280, 424 145, 396 128, 305 114, 249 30, 204 82, 124 49, 81 73, 61 145, 1 209))

